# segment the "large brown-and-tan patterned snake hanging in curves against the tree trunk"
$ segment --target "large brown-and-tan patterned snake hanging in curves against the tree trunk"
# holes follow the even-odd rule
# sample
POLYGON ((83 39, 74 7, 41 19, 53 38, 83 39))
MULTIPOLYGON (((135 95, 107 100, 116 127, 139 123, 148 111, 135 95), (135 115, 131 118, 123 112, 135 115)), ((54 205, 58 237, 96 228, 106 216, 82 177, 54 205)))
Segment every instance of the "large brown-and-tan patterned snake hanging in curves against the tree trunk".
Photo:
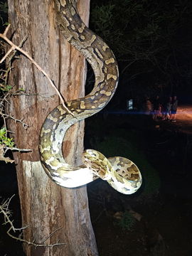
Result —
POLYGON ((107 105, 117 88, 118 67, 112 50, 82 22, 75 0, 55 0, 55 6, 63 36, 92 66, 95 85, 89 95, 66 102, 70 112, 58 105, 46 117, 39 145, 43 169, 55 183, 67 188, 82 186, 100 177, 121 193, 134 193, 142 184, 142 176, 129 159, 119 156, 107 159, 100 152, 87 149, 82 156, 84 165, 70 166, 65 162, 62 153, 65 132, 75 122, 107 105))

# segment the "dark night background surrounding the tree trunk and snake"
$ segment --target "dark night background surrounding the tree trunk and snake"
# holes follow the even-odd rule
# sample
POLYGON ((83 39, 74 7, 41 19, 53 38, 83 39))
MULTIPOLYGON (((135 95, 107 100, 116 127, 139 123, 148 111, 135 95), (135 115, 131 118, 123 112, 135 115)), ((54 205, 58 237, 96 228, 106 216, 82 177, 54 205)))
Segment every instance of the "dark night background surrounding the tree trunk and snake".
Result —
MULTIPOLYGON (((0 11, 2 32, 6 1, 0 1, 0 11)), ((87 185, 100 256, 192 255, 191 27, 191 0, 90 1, 90 28, 112 48, 119 85, 107 107, 85 120, 85 149, 131 159, 144 179, 132 196, 101 180, 87 185), (147 112, 146 100, 153 103, 156 95, 161 104, 178 97, 176 122, 154 120, 147 112)), ((89 65, 87 70, 89 92, 94 75, 89 65)), ((14 164, 1 161, 0 169, 1 201, 16 195, 10 208, 21 226, 14 164)), ((24 255, 6 230, 1 225, 0 256, 24 255)))

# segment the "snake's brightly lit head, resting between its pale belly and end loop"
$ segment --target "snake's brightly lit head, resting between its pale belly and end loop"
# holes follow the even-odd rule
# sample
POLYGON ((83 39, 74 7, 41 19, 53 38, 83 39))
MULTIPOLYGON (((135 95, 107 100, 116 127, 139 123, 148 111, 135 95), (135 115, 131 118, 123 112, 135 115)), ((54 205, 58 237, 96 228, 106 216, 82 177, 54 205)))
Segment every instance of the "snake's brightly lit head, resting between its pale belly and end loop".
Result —
POLYGON ((86 149, 82 153, 82 162, 103 180, 106 181, 111 178, 110 170, 112 169, 112 166, 107 158, 99 151, 86 149))

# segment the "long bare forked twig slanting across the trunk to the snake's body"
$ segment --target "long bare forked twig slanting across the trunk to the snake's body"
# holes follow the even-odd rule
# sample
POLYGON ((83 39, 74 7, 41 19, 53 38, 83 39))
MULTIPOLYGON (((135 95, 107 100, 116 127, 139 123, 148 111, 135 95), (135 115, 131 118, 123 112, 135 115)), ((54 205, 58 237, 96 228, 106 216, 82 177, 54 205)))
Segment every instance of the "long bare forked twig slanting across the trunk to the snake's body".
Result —
POLYGON ((65 101, 63 100, 62 95, 60 94, 58 88, 55 86, 55 84, 53 83, 53 81, 49 78, 49 76, 48 76, 48 74, 45 72, 45 70, 43 70, 43 69, 40 67, 40 65, 38 65, 38 63, 36 63, 36 61, 33 60, 33 58, 31 58, 31 56, 28 55, 28 53, 27 53, 25 50, 23 50, 23 49, 21 49, 20 47, 16 46, 13 42, 11 42, 11 41, 9 40, 9 38, 6 37, 6 33, 9 31, 10 26, 11 26, 11 24, 9 24, 9 25, 6 27, 6 30, 4 31, 4 33, 0 33, 0 37, 3 38, 3 39, 4 39, 7 43, 9 43, 9 45, 11 46, 11 48, 10 48, 9 51, 6 53, 6 55, 4 55, 4 57, 0 60, 0 63, 2 63, 2 62, 5 60, 5 58, 9 55, 9 53, 11 53, 12 50, 18 50, 18 51, 20 51, 21 53, 23 53, 23 55, 25 55, 29 60, 31 60, 31 63, 33 63, 33 64, 36 66, 36 68, 38 68, 38 70, 40 70, 41 73, 43 73, 43 75, 46 76, 46 78, 47 78, 48 81, 50 82, 50 85, 51 85, 51 86, 55 89, 55 91, 57 92, 58 97, 60 98, 60 101, 61 101, 63 107, 65 108, 65 110, 67 110, 70 114, 73 115, 73 113, 72 113, 70 110, 68 110, 68 107, 66 107, 65 101))

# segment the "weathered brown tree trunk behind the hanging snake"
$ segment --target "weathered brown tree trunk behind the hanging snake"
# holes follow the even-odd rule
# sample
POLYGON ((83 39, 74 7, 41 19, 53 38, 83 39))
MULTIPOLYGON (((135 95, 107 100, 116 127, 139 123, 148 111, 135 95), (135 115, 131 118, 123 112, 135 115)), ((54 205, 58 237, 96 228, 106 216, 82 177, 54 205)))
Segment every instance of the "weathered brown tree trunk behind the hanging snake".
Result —
MULTIPOLYGON (((80 16, 88 22, 89 1, 79 0, 80 16)), ((53 0, 9 0, 9 22, 13 41, 19 45, 27 36, 23 49, 50 75, 65 97, 71 100, 84 95, 85 60, 60 35, 55 22, 53 0)), ((41 167, 38 137, 46 115, 59 105, 58 95, 48 80, 23 55, 14 60, 10 83, 14 91, 24 89, 26 95, 11 97, 7 111, 28 124, 9 122, 19 148, 33 149, 31 153, 15 153, 18 191, 21 200, 24 238, 47 245, 65 242, 55 247, 33 247, 24 244, 26 255, 98 255, 95 235, 90 222, 86 186, 61 188, 50 181, 41 167)), ((80 164, 83 149, 84 123, 74 125, 65 138, 66 158, 70 164, 80 164)))

